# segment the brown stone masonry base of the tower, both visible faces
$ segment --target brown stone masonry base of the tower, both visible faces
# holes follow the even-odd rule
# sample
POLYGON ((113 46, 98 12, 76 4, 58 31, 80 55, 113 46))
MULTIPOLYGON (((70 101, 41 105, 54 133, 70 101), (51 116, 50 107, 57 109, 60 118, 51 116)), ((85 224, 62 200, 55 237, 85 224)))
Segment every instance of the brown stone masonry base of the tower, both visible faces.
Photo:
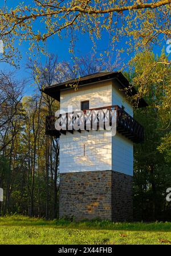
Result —
POLYGON ((59 217, 132 221, 132 176, 113 170, 60 173, 59 217))

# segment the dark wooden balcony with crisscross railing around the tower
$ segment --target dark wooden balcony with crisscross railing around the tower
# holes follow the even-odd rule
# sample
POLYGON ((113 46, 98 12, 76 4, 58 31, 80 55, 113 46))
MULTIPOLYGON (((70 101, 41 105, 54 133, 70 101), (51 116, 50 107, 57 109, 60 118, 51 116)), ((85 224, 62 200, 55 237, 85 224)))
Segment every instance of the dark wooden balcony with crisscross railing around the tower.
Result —
POLYGON ((55 116, 46 116, 46 135, 59 137, 61 133, 73 133, 74 131, 82 132, 83 129, 87 132, 91 129, 99 129, 99 127, 105 129, 105 121, 108 121, 109 125, 112 125, 113 112, 115 112, 117 132, 133 141, 133 143, 142 143, 144 140, 143 126, 141 126, 135 119, 133 119, 132 116, 118 105, 93 108, 83 112, 84 115, 82 115, 80 111, 66 113, 65 115, 61 114, 59 117, 65 121, 65 125, 59 131, 55 129, 55 116), (74 128, 74 122, 78 117, 79 125, 82 123, 83 129, 74 128), (101 118, 104 120, 102 122, 103 127, 101 127, 101 123, 99 121, 101 118), (93 127, 93 123, 96 123, 96 128, 93 127))

